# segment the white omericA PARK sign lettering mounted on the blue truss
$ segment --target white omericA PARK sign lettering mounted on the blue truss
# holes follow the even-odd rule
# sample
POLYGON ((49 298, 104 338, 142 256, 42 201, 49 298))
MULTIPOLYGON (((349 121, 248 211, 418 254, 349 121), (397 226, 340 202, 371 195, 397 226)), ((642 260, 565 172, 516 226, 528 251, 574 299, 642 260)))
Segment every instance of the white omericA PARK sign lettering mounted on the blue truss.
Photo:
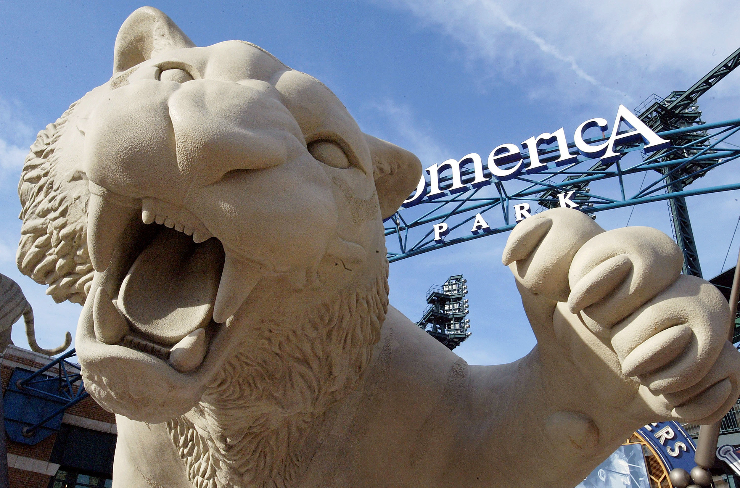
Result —
MULTIPOLYGON (((582 155, 587 159, 601 158, 603 163, 613 163, 625 155, 625 146, 635 143, 644 144, 642 149, 646 153, 667 149, 670 146, 670 141, 661 138, 653 132, 650 127, 640 121, 624 105, 620 105, 619 109, 617 109, 616 119, 612 127, 612 133, 608 140, 593 143, 593 140, 586 140, 584 138, 585 132, 588 129, 599 129, 603 134, 609 129, 608 122, 603 118, 591 118, 581 123, 573 134, 573 142, 575 143, 578 154, 571 154, 569 151, 568 141, 565 139, 565 129, 561 127, 555 132, 543 132, 536 137, 524 140, 521 143, 521 149, 520 146, 511 143, 501 144, 495 147, 488 155, 486 162, 487 172, 484 171, 482 158, 474 152, 463 156, 459 160, 448 159, 442 163, 435 163, 425 170, 426 174, 422 174, 416 190, 403 202, 403 206, 411 207, 419 203, 435 200, 447 194, 466 192, 472 188, 489 185, 494 181, 511 180, 521 174, 539 173, 550 168, 551 165, 565 166, 573 164, 578 162, 578 155, 582 155), (622 126, 622 123, 628 126, 628 129, 619 132, 619 127, 622 126), (539 146, 553 143, 556 144, 554 146, 556 147, 556 152, 554 152, 553 157, 548 157, 548 161, 545 162, 545 157, 540 153, 539 146), (529 157, 526 166, 522 157, 522 151, 525 149, 529 157), (466 180, 463 180, 462 169, 471 163, 473 164, 473 172, 466 174, 466 180), (449 182, 445 181, 446 185, 443 188, 440 183, 440 174, 445 171, 451 171, 451 178, 447 178, 449 182)), ((572 196, 573 192, 558 194, 559 206, 571 209, 579 208, 579 204, 571 200, 572 196)), ((512 207, 514 209, 514 219, 517 222, 531 216, 529 203, 516 203, 512 207)), ((448 225, 446 223, 435 223, 433 226, 434 241, 440 243, 448 233, 448 225)), ((477 214, 471 232, 485 232, 489 228, 490 226, 488 226, 482 215, 477 214)))

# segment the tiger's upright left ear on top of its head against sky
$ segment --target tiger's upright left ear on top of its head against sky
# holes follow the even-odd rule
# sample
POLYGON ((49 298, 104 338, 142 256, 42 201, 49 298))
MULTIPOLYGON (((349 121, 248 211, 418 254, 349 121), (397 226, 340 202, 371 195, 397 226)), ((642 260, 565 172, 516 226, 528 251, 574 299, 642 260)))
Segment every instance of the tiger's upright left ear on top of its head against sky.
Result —
POLYGON ((154 7, 138 8, 121 24, 115 36, 113 75, 147 61, 158 52, 184 47, 195 47, 195 44, 164 12, 154 7))

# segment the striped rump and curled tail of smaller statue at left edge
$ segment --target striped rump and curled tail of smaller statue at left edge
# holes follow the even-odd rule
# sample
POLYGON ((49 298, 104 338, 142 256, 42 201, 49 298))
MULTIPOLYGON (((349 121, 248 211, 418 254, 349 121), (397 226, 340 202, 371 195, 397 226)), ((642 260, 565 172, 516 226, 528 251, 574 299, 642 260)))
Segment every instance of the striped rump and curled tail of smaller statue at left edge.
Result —
POLYGON ((64 344, 58 346, 58 348, 44 349, 39 347, 36 342, 36 331, 33 328, 33 308, 26 300, 20 285, 4 274, 0 274, 0 351, 4 351, 8 345, 13 344, 10 339, 10 331, 13 324, 21 318, 21 315, 26 325, 26 336, 31 350, 53 356, 69 348, 72 344, 72 334, 67 332, 64 337, 64 344))

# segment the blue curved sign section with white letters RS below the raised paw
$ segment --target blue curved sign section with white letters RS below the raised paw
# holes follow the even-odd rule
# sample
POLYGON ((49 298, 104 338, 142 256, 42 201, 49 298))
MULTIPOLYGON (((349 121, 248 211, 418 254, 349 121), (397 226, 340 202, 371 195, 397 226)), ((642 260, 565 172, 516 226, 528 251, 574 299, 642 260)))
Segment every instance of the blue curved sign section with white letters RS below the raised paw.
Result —
POLYGON ((668 472, 675 468, 690 472, 696 466, 696 445, 678 422, 653 422, 640 427, 637 433, 655 450, 668 472))

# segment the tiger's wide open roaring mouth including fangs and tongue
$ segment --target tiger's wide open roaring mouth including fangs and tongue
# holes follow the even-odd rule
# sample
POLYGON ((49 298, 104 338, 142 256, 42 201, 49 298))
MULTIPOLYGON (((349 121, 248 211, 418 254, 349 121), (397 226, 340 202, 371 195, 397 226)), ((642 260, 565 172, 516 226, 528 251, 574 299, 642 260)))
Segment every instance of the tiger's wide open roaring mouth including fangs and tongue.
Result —
POLYGON ((95 187, 88 204, 90 258, 101 275, 91 290, 95 339, 180 373, 196 370, 263 271, 224 251, 183 207, 95 187))

